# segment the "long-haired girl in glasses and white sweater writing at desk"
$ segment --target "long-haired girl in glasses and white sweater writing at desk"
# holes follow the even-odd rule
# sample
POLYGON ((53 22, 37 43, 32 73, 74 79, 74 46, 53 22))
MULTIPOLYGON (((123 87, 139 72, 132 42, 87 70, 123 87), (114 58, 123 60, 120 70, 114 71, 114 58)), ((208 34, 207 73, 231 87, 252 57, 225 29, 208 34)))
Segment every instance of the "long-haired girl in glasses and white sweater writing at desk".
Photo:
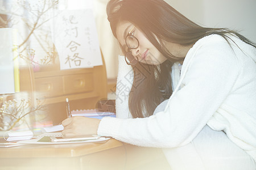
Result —
POLYGON ((254 169, 254 42, 230 29, 201 27, 162 0, 110 0, 107 12, 133 68, 133 118, 118 118, 128 111, 101 121, 68 118, 63 135, 98 134, 169 148, 164 153, 177 169, 187 169, 184 163, 193 158, 199 159, 191 169, 254 169), (172 161, 184 147, 195 154, 172 161))

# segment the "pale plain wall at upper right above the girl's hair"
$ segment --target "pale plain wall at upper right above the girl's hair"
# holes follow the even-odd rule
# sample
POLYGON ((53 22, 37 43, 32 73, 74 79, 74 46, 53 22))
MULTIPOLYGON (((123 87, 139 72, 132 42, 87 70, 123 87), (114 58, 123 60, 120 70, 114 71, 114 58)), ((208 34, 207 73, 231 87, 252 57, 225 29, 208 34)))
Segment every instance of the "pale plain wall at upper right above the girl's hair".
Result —
POLYGON ((255 0, 166 0, 187 18, 205 27, 228 27, 256 42, 255 0))

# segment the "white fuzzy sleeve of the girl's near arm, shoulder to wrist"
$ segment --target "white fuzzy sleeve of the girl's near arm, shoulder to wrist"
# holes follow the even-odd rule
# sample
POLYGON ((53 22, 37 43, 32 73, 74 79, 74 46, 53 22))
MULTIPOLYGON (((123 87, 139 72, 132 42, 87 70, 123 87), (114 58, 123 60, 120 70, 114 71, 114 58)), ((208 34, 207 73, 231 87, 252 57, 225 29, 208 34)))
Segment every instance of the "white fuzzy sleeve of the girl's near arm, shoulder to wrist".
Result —
POLYGON ((98 134, 146 147, 178 147, 191 142, 232 91, 240 66, 224 41, 203 44, 188 55, 193 57, 186 73, 181 70, 180 90, 163 112, 146 118, 102 118, 98 134))

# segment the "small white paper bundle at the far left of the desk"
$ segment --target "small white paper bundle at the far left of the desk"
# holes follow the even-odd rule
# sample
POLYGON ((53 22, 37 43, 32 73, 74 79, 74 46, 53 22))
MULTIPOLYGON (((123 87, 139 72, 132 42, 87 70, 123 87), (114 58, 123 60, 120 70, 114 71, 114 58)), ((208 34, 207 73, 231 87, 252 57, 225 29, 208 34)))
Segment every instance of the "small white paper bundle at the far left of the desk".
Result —
POLYGON ((23 141, 23 140, 28 140, 33 137, 32 131, 17 131, 17 132, 9 132, 7 134, 7 137, 5 136, 4 138, 6 141, 23 141))

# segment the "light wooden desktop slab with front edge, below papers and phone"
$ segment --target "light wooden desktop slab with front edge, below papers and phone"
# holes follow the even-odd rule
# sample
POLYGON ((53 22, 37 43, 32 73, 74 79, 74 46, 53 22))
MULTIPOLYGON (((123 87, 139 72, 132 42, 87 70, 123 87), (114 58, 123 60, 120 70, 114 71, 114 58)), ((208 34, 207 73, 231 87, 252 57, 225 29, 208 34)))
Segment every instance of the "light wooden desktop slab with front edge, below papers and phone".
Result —
POLYGON ((109 139, 99 143, 74 143, 58 145, 23 145, 0 148, 0 158, 42 158, 42 157, 75 157, 123 146, 122 142, 109 139))

